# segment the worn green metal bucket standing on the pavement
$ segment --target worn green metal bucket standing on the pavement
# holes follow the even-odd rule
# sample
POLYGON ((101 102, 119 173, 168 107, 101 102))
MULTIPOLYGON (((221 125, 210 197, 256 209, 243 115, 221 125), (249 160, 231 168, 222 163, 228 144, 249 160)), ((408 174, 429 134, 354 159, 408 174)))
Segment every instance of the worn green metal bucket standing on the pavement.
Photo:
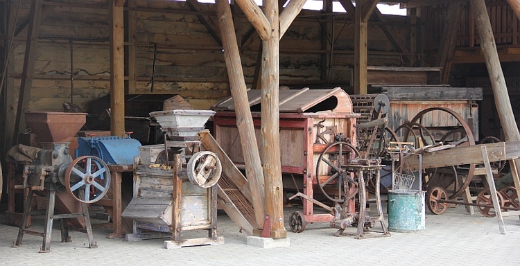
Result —
POLYGON ((400 233, 424 231, 424 191, 388 191, 388 230, 400 233))

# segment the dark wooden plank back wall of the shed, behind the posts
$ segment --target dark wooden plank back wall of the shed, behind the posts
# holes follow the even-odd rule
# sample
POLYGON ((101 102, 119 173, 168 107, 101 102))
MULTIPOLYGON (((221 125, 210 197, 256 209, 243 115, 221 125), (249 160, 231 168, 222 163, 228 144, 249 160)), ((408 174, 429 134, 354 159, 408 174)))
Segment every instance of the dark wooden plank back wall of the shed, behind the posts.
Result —
MULTIPOLYGON (((0 0, 2 1, 2 0, 0 0)), ((9 0, 3 0, 9 1, 9 0)), ((126 1, 131 2, 132 0, 126 1)), ((222 47, 201 23, 185 1, 135 1, 137 32, 125 46, 135 48, 132 71, 135 72, 137 94, 150 94, 155 61, 154 94, 180 94, 196 109, 209 109, 218 100, 229 96, 229 82, 222 47)), ((22 0, 17 28, 28 21, 30 0, 22 0)), ((16 8, 17 1, 12 2, 16 8)), ((198 3, 202 14, 216 23, 213 4, 198 3)), ((31 91, 31 110, 62 111, 62 103, 71 102, 71 42, 73 51, 72 102, 89 112, 89 103, 110 92, 109 32, 110 18, 106 0, 71 0, 67 3, 45 1, 44 8, 52 8, 42 19, 38 42, 35 76, 31 91)), ((14 13, 14 12, 13 12, 14 13)), ((1 12, 1 16, 3 16, 1 12)), ((245 79, 251 84, 257 64, 259 37, 243 15, 235 16, 236 32, 245 79), (251 37, 250 37, 251 36, 251 37)), ((3 20, 3 18, 2 18, 3 20)), ((329 56, 330 48, 322 48, 322 26, 331 22, 320 11, 304 10, 288 29, 280 43, 280 85, 292 89, 326 87, 322 80, 322 56, 329 56), (327 20, 328 19, 328 20, 327 20)), ((401 39, 406 39, 406 19, 388 16, 401 39)), ((215 24, 216 25, 216 24, 215 24)), ((218 31, 218 28, 216 28, 218 31)), ((354 25, 342 15, 334 24, 333 59, 329 86, 348 87, 354 64, 354 25)), ((388 41, 378 24, 369 24, 369 62, 371 65, 402 65, 401 54, 388 41)), ((25 34, 15 37, 14 71, 15 99, 8 109, 16 109, 21 68, 24 62, 25 34)), ((0 35, 2 37, 3 35, 0 35)), ((125 36, 128 40, 128 36, 125 36)), ((3 42, 3 39, 1 40, 3 42)), ((3 46, 0 46, 3 50, 3 46)), ((128 62, 126 63, 127 65, 128 62)), ((128 79, 128 77, 127 77, 128 79)), ((7 114, 14 115, 14 114, 7 114)))

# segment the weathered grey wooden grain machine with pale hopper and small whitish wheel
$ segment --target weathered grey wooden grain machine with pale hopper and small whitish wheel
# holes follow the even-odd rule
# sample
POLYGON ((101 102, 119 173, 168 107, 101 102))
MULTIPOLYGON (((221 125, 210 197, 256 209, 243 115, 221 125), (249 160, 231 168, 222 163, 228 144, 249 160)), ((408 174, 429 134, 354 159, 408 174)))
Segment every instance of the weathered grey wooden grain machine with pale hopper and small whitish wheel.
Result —
POLYGON ((223 243, 216 234, 216 183, 222 166, 216 154, 201 149, 198 136, 213 114, 185 109, 150 113, 165 132, 164 147, 155 163, 135 161, 134 197, 121 215, 134 220, 135 231, 127 240, 169 237, 166 249, 223 243), (196 230, 207 230, 207 238, 193 238, 196 230))

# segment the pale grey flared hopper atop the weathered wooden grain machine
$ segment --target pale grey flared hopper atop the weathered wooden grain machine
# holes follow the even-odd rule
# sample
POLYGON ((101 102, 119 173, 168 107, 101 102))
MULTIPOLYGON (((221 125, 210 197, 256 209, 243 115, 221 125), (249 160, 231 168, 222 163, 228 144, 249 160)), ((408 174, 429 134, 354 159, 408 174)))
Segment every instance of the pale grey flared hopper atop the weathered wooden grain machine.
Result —
POLYGON ((204 129, 204 124, 215 114, 209 110, 168 110, 151 112, 150 116, 157 120, 164 132, 171 136, 196 136, 204 129))

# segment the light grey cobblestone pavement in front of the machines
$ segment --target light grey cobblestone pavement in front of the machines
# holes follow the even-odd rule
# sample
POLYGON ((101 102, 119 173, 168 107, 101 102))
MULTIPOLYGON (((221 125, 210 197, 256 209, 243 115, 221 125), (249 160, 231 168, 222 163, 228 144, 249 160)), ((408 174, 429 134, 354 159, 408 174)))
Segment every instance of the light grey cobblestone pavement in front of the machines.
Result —
MULTIPOLYGON (((288 215, 299 210, 286 208, 287 229, 288 215)), ((388 238, 356 240, 335 237, 336 229, 328 223, 314 223, 302 233, 288 229, 290 247, 272 249, 246 245, 246 237, 220 211, 218 236, 225 238, 223 245, 163 249, 164 240, 125 242, 105 238, 110 229, 96 229, 98 248, 89 249, 87 235, 78 231, 71 231, 73 242, 60 242, 55 222, 48 254, 38 253, 42 238, 28 234, 21 247, 12 248, 18 229, 3 219, 0 215, 0 265, 520 265, 519 219, 504 218, 507 233, 501 235, 496 218, 485 218, 478 211, 467 215, 463 206, 442 215, 426 210, 422 233, 392 232, 388 238)), ((35 218, 32 227, 42 230, 43 220, 35 218)))

